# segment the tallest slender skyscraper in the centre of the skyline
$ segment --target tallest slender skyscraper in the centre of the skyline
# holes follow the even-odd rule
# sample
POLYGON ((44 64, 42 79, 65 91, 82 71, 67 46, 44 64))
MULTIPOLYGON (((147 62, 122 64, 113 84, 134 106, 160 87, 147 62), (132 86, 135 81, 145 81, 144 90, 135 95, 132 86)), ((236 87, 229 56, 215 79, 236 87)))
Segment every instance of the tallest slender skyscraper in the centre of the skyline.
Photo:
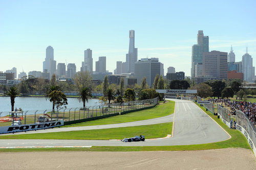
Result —
POLYGON ((135 62, 138 60, 138 48, 135 48, 135 33, 134 30, 129 31, 129 52, 126 54, 126 68, 127 72, 135 71, 135 62))

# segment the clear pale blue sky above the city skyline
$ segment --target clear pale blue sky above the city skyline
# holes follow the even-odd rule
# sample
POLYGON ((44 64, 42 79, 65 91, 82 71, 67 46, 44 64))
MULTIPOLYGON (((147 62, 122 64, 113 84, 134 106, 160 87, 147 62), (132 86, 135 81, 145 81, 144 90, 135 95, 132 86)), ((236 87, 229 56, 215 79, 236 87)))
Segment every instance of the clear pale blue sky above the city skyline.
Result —
MULTIPOLYGON (((138 59, 158 57, 190 76, 191 46, 197 32, 209 36, 209 50, 229 52, 236 61, 245 47, 256 56, 256 1, 4 1, 0 0, 0 71, 42 71, 45 50, 57 63, 75 63, 93 51, 93 69, 106 56, 106 69, 125 61, 129 30, 135 30, 138 59)), ((256 65, 254 58, 253 65, 256 65)))

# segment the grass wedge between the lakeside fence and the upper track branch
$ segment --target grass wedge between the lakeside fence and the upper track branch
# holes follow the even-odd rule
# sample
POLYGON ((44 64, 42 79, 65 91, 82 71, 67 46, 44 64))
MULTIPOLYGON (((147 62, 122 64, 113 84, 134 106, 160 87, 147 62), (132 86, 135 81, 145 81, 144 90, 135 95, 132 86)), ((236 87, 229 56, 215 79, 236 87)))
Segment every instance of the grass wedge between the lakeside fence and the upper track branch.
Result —
POLYGON ((122 115, 117 115, 113 117, 107 117, 97 120, 92 120, 89 122, 83 122, 78 124, 72 125, 65 125, 65 127, 79 127, 79 126, 94 126, 94 125, 108 125, 108 124, 119 124, 119 123, 126 123, 126 122, 135 122, 139 120, 157 118, 162 116, 167 116, 169 114, 174 113, 175 102, 170 101, 168 103, 157 105, 151 109, 145 109, 137 112, 126 113, 122 115))

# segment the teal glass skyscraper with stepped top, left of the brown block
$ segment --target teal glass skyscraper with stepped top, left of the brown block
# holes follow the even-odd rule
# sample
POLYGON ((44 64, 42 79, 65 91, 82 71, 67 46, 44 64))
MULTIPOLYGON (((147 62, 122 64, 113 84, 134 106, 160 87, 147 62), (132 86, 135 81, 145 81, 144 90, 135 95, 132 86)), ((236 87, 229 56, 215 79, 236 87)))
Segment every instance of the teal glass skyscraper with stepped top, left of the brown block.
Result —
MULTIPOLYGON (((202 65, 203 62, 203 53, 209 52, 209 37, 204 36, 204 33, 202 30, 198 31, 197 34, 197 44, 192 46, 192 56, 191 56, 191 78, 193 79, 195 76, 195 68, 199 69, 201 68, 200 65, 202 65), (198 66, 195 66, 197 65, 198 66)), ((200 70, 197 70, 197 73, 201 72, 200 70)))

